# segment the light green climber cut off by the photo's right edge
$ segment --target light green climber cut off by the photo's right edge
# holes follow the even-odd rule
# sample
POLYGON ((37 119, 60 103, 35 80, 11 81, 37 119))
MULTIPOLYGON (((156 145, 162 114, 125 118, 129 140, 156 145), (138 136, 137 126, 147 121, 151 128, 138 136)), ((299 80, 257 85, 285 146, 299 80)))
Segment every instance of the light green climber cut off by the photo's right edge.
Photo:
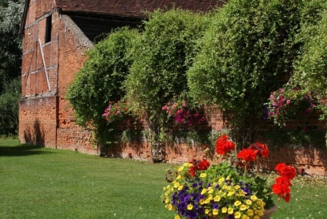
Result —
MULTIPOLYGON (((312 1, 303 9, 302 28, 297 38, 303 43, 292 80, 319 100, 327 97, 327 1, 312 1)), ((327 106, 320 104, 324 116, 327 106)))

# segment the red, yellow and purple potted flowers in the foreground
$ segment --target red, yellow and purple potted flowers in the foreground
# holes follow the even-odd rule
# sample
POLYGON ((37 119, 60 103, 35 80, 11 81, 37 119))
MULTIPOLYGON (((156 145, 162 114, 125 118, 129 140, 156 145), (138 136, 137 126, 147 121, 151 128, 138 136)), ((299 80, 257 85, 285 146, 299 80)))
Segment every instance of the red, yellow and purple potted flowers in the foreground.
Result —
MULTIPOLYGON (((219 155, 228 158, 235 150, 228 136, 216 142, 219 155)), ((170 171, 161 198, 168 210, 176 211, 175 219, 242 218, 259 219, 265 209, 274 206, 272 195, 290 201, 294 167, 280 163, 275 170, 279 177, 270 187, 266 179, 255 174, 250 165, 268 156, 268 147, 260 142, 238 152, 238 162, 210 165, 206 159, 187 162, 170 171)), ((278 199, 279 200, 279 199, 278 199)))

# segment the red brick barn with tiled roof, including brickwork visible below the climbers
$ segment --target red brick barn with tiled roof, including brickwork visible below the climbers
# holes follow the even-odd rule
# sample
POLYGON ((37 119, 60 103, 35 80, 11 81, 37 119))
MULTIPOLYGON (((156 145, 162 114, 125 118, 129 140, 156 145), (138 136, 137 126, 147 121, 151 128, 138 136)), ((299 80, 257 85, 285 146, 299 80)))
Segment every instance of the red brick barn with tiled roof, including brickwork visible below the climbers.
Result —
MULTIPOLYGON (((219 0, 26 0, 20 33, 23 36, 19 109, 19 139, 58 149, 99 154, 92 146, 91 134, 75 124, 73 109, 64 99, 68 85, 86 60, 85 51, 113 28, 137 27, 145 11, 181 8, 209 11, 221 6, 219 0)), ((313 121, 315 125, 317 120, 313 121)), ((319 124, 319 123, 318 123, 319 124)), ((220 130, 219 114, 210 115, 208 125, 220 130)), ((325 129, 320 123, 317 129, 325 129), (319 126, 319 127, 318 127, 319 126)), ((295 127, 295 126, 294 126, 295 127)), ((118 146, 119 147, 119 146, 118 146)), ((171 162, 202 158, 202 149, 186 145, 167 149, 171 162)), ((148 159, 150 146, 116 148, 119 157, 132 155, 148 159)), ((327 153, 318 149, 280 148, 269 162, 289 162, 314 176, 327 173, 327 153)))

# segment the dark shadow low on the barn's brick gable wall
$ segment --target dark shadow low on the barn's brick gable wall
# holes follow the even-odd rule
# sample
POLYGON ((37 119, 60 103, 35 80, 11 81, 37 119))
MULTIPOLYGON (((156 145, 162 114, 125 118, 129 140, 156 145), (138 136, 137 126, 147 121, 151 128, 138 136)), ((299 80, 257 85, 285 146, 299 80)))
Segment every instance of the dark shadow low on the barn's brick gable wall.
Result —
POLYGON ((44 129, 40 127, 40 121, 36 119, 33 128, 28 127, 24 131, 25 142, 44 147, 44 129))

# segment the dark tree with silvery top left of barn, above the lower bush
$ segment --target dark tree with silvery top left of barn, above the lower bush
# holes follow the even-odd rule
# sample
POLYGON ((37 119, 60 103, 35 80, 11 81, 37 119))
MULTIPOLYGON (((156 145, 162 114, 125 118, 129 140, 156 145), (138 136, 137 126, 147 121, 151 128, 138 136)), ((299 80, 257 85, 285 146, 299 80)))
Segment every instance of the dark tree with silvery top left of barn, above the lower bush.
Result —
POLYGON ((24 1, 0 3, 0 93, 8 80, 20 75, 21 35, 18 34, 24 1))

